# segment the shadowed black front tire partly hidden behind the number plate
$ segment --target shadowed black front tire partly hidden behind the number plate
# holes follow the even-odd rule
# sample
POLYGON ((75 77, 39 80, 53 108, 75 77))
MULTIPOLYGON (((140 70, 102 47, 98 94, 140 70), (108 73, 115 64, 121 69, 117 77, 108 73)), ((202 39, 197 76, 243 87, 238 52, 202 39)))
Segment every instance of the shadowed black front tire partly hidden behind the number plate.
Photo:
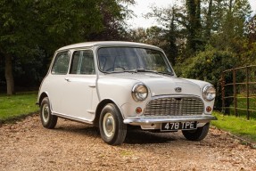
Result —
POLYGON ((202 127, 198 127, 195 130, 184 130, 182 134, 190 141, 201 141, 209 132, 210 123, 205 124, 202 127))

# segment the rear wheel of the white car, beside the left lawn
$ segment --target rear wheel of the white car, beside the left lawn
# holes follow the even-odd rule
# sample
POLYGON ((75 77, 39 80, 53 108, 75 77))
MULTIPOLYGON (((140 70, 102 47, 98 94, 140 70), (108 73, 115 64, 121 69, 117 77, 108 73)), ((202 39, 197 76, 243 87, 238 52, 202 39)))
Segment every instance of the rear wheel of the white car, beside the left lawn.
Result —
POLYGON ((42 125, 48 129, 53 129, 57 124, 58 117, 52 115, 52 110, 50 108, 50 102, 48 97, 45 97, 41 102, 40 118, 42 125))

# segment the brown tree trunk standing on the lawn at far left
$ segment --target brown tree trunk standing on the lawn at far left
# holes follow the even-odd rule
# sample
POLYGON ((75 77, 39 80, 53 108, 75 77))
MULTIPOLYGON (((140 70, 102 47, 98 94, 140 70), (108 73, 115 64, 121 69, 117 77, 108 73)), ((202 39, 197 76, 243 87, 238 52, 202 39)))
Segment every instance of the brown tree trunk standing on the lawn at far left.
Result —
POLYGON ((7 94, 12 95, 14 92, 14 79, 12 76, 12 56, 6 54, 5 56, 5 79, 7 85, 7 94))

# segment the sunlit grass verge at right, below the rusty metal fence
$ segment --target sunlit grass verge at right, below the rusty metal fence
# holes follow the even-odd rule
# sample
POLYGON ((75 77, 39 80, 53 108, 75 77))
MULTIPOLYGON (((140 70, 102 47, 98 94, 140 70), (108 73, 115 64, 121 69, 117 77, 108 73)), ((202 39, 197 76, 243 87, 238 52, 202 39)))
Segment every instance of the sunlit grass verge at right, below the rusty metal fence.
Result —
POLYGON ((251 118, 236 118, 235 116, 223 115, 219 112, 213 112, 218 120, 211 121, 212 126, 216 126, 231 134, 235 134, 243 139, 255 143, 256 142, 256 120, 251 118))

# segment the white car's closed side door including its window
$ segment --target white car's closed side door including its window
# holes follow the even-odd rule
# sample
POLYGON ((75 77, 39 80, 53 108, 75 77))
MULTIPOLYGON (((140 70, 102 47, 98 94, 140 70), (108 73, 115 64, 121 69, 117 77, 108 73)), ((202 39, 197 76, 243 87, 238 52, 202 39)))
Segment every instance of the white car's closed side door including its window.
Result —
POLYGON ((72 53, 69 74, 65 77, 61 113, 70 118, 92 121, 95 118, 93 100, 96 94, 96 74, 93 51, 72 53))

